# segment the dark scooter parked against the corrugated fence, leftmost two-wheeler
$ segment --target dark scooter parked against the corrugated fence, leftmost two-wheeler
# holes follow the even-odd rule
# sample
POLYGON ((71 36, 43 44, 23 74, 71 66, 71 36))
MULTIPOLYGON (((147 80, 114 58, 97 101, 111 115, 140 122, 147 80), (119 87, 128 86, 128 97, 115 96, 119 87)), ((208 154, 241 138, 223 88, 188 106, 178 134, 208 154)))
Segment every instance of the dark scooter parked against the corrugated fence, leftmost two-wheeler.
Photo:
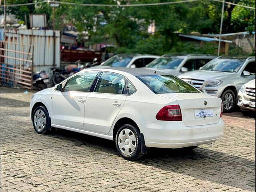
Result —
POLYGON ((42 90, 46 89, 50 86, 49 76, 46 74, 44 70, 40 72, 36 72, 33 75, 33 87, 42 90))

